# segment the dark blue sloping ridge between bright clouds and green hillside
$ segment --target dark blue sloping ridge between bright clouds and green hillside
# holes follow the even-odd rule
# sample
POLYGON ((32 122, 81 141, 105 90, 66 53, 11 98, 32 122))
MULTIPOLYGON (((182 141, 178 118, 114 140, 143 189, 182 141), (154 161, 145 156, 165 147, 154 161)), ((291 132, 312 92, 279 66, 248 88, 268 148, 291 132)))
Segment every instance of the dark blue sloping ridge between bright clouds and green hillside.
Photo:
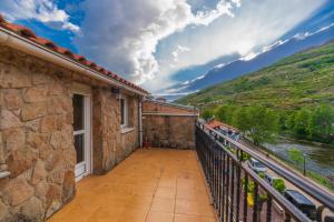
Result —
MULTIPOLYGON (((188 81, 178 88, 175 92, 183 94, 194 92, 204 88, 228 81, 234 78, 257 71, 262 68, 273 64, 283 58, 292 56, 296 52, 306 50, 311 47, 324 44, 334 38, 334 23, 323 28, 314 33, 296 34, 286 41, 278 41, 265 49, 265 52, 257 54, 254 59, 239 59, 228 64, 218 65, 208 71, 202 79, 188 81)), ((175 97, 174 97, 175 98, 175 97)))

